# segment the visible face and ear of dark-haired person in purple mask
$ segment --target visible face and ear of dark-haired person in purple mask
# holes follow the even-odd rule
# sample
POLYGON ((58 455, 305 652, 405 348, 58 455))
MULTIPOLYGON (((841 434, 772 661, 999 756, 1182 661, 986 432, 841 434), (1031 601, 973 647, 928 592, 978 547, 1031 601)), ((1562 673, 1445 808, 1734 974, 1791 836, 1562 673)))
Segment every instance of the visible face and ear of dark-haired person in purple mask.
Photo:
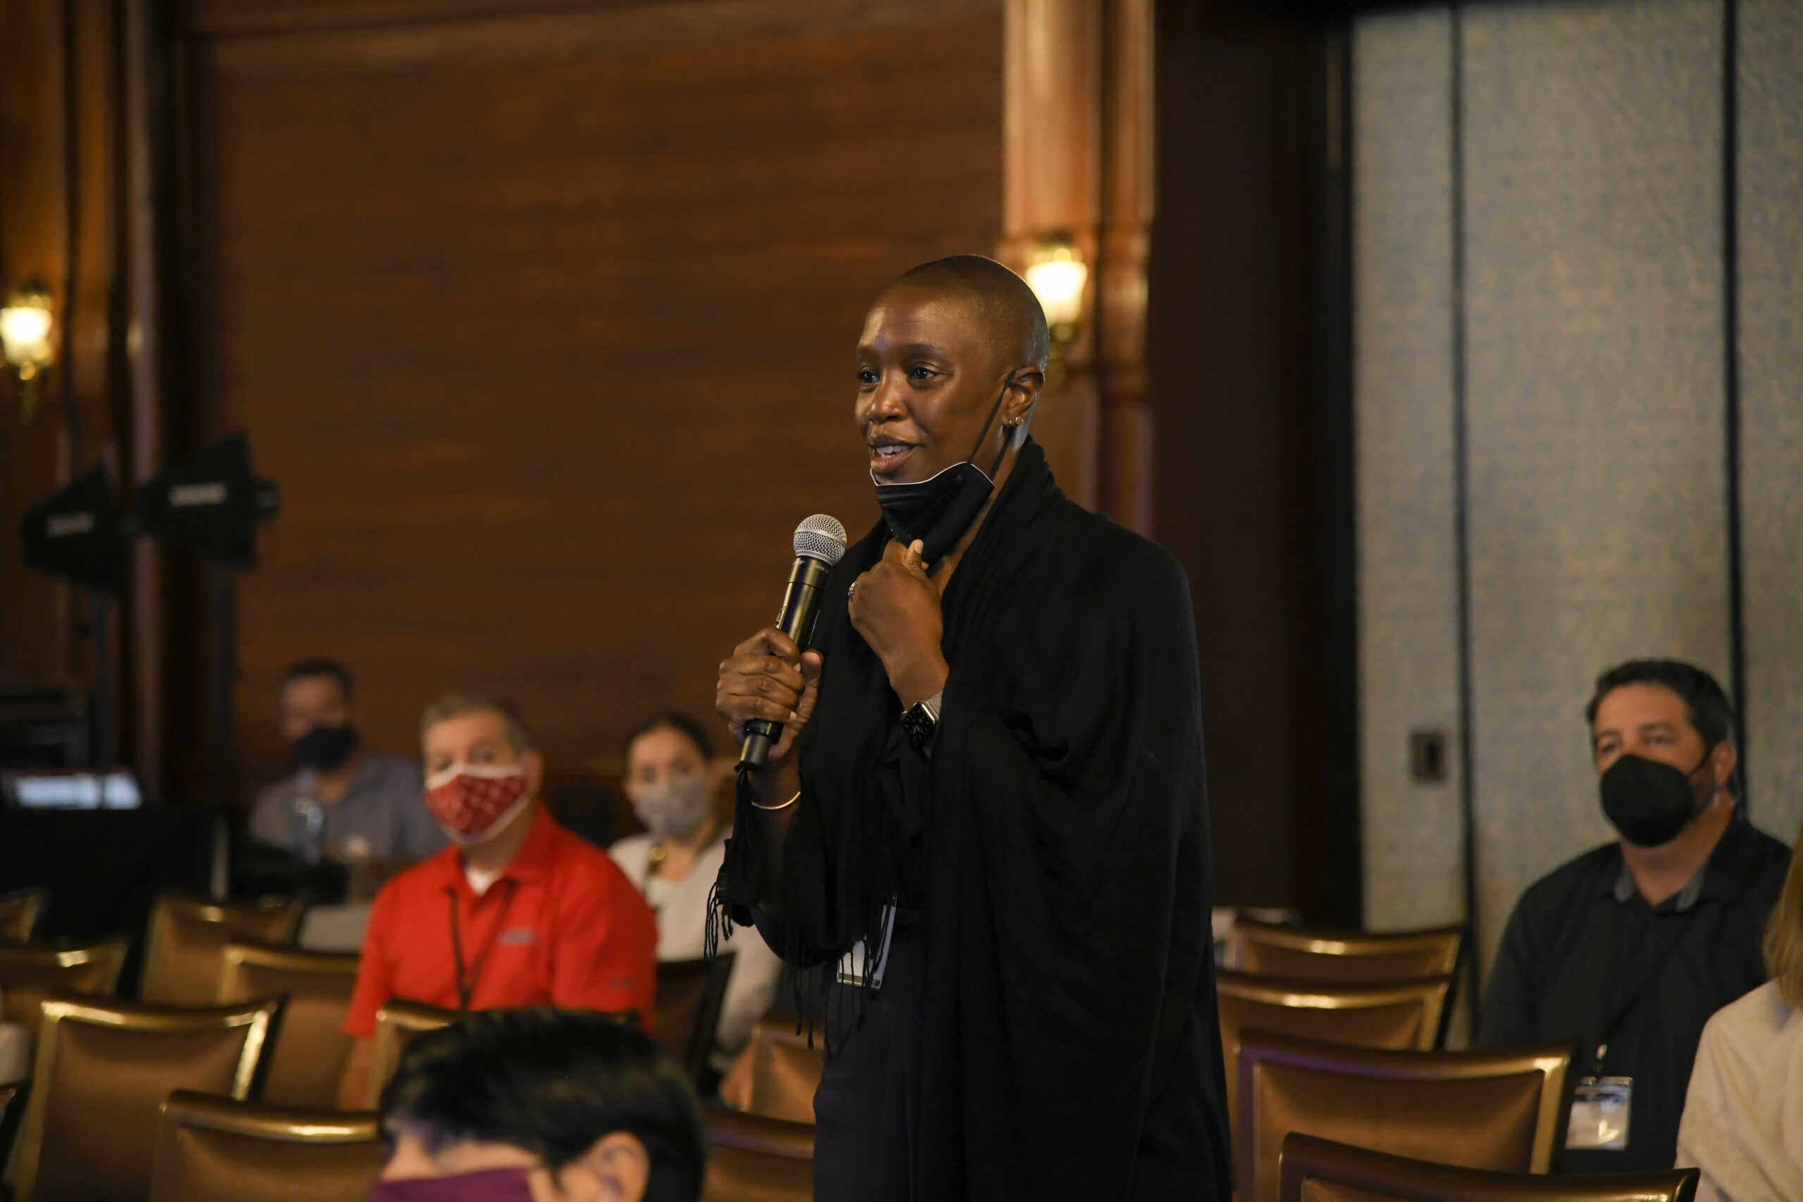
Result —
POLYGON ((532 1202, 638 1202, 645 1195, 651 1157, 636 1135, 609 1132, 555 1175, 537 1155, 514 1144, 460 1141, 436 1144, 404 1126, 379 1180, 460 1177, 489 1170, 526 1170, 532 1202))

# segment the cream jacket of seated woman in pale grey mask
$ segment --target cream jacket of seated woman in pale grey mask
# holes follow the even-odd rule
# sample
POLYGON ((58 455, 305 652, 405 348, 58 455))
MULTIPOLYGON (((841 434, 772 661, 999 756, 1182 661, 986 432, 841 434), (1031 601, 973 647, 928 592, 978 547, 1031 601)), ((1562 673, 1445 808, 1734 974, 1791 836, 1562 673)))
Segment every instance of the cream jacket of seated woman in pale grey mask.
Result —
MULTIPOLYGON (((645 890, 645 869, 651 863, 653 843, 656 840, 649 834, 633 834, 608 849, 608 854, 638 892, 645 890)), ((721 833, 696 854, 689 876, 671 887, 667 899, 658 906, 660 961, 701 957, 707 942, 707 896, 712 892, 714 878, 719 876, 719 865, 725 860, 727 836, 721 833)), ((732 1065, 732 1058, 745 1047, 752 1027, 770 1009, 770 1002, 777 995, 777 979, 783 975, 783 961, 763 941, 763 935, 748 928, 732 928, 719 950, 734 953, 732 977, 727 979, 727 998, 719 1007, 719 1027, 714 1031, 714 1054, 710 1056, 710 1063, 725 1072, 732 1065)))

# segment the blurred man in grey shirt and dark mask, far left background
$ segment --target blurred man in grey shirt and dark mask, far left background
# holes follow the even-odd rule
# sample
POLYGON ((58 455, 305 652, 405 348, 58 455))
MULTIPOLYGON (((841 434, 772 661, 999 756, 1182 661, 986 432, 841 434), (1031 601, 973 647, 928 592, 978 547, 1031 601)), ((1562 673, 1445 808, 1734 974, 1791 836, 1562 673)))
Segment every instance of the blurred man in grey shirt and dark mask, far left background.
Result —
POLYGON ((445 845, 420 806, 418 760, 359 750, 348 667, 303 660, 283 674, 279 699, 301 768, 256 798, 251 838, 305 863, 413 861, 445 845))

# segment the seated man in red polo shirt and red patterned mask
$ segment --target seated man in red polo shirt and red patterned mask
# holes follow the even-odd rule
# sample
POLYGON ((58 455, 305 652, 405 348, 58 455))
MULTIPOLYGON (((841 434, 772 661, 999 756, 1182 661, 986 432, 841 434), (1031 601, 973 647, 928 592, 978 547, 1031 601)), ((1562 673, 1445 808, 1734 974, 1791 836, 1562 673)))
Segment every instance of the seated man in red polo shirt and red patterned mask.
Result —
POLYGON ((651 906, 604 851, 539 804, 545 757, 499 697, 447 697, 420 719, 426 806, 453 845, 375 897, 344 1016, 355 1038, 339 1101, 370 1101, 375 1011, 552 1004, 638 1011, 656 1000, 651 906))

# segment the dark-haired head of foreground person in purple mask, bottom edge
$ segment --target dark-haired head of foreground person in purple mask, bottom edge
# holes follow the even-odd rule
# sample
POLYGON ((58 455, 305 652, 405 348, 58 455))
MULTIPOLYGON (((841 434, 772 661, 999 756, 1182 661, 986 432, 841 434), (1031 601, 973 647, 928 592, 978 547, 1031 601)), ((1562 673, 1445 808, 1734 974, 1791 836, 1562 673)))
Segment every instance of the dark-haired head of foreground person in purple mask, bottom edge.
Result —
POLYGON ((707 1170, 682 1070, 633 1027, 548 1006, 407 1043, 382 1135, 371 1202, 694 1202, 707 1170))

